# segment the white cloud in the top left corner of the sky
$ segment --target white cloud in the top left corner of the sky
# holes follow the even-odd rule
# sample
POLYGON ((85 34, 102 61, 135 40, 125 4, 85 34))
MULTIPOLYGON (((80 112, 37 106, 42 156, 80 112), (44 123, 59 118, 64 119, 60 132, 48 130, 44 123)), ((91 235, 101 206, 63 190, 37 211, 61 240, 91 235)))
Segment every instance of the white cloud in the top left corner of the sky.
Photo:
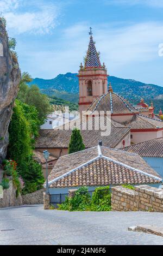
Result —
POLYGON ((28 1, 19 3, 23 5, 23 8, 17 0, 2 0, 0 3, 2 14, 7 19, 7 28, 12 29, 16 34, 25 32, 46 34, 51 33, 52 29, 57 26, 59 10, 54 4, 39 1, 28 10, 30 7, 28 1))

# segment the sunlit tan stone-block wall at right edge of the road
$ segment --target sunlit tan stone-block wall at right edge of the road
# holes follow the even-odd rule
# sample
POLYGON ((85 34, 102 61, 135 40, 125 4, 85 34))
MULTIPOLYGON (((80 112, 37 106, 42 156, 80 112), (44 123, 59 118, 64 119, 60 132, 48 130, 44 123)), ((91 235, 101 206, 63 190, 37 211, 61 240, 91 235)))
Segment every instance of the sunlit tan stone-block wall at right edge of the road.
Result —
POLYGON ((112 187, 111 208, 113 211, 163 212, 163 189, 147 185, 133 189, 112 187))

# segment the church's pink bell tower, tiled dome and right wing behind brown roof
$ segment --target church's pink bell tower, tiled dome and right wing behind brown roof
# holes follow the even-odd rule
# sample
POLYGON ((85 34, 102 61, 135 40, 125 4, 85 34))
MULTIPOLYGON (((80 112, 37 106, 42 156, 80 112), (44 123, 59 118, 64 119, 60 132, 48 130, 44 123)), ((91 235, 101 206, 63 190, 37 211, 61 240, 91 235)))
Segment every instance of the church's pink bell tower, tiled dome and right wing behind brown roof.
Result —
MULTIPOLYGON (((108 89, 108 74, 90 32, 90 42, 84 66, 80 64, 79 78, 79 111, 80 115, 93 118, 103 112, 110 112, 111 120, 130 128, 131 144, 160 138, 163 136, 163 122, 160 116, 154 115, 154 106, 148 106, 143 99, 133 106, 114 92, 111 84, 108 89), (84 113, 85 111, 85 113, 84 113), (89 114, 88 114, 89 113, 89 114)), ((161 110, 160 110, 160 113, 161 110)), ((160 114, 159 113, 159 114, 160 114)))

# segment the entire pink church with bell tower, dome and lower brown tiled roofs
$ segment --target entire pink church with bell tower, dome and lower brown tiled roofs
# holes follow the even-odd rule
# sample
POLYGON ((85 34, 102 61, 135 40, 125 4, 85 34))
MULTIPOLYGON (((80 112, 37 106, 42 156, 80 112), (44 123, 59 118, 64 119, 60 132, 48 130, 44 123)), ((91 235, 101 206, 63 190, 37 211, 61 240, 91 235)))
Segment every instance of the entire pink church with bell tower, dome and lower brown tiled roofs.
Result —
MULTIPOLYGON (((41 129, 36 139, 36 149, 40 152, 47 150, 53 157, 59 158, 68 153, 72 129, 77 127, 81 130, 85 148, 96 147, 99 141, 103 146, 110 148, 124 148, 131 144, 137 144, 163 136, 163 122, 159 116, 154 115, 153 104, 148 106, 143 99, 136 106, 133 106, 114 92, 111 84, 108 88, 108 74, 105 64, 101 64, 99 54, 96 51, 90 32, 89 48, 84 65, 80 64, 79 78, 79 111, 84 112, 82 121, 86 129, 78 127, 79 118, 64 124, 66 129, 41 129), (109 111, 110 134, 103 135, 102 130, 95 126, 90 130, 90 123, 96 123, 96 115, 109 111), (89 114, 88 114, 89 112, 89 114), (91 120, 92 118, 92 120, 91 120), (73 123, 72 123, 73 122, 73 123), (70 129, 71 127, 71 129, 70 129)), ((162 112, 160 111, 160 116, 162 112)))

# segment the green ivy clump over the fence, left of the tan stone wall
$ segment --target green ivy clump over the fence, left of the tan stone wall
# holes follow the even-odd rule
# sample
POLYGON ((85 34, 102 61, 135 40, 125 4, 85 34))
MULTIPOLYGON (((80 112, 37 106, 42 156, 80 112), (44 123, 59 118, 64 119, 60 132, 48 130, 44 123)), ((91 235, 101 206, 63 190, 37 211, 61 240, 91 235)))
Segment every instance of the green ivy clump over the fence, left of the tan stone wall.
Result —
POLYGON ((111 193, 109 192, 109 186, 96 188, 92 199, 88 189, 81 187, 73 198, 66 197, 65 202, 58 206, 59 210, 68 211, 110 211, 111 193))

